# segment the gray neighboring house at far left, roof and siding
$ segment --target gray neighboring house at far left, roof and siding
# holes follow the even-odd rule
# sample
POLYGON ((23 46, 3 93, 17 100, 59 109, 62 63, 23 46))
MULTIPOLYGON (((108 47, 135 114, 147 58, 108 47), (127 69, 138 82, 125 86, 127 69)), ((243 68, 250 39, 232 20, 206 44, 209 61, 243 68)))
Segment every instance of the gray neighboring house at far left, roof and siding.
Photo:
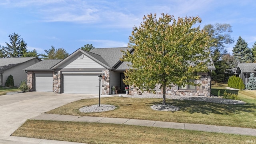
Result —
POLYGON ((0 58, 0 86, 5 86, 6 79, 10 75, 14 78, 14 86, 20 86, 20 82, 27 79, 23 69, 40 61, 37 57, 0 58))

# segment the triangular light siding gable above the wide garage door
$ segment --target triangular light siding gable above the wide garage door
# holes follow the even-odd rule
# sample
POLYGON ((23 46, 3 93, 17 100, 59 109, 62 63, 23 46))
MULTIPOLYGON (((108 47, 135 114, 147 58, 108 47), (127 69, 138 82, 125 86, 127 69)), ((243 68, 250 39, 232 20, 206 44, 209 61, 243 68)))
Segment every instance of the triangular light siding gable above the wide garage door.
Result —
POLYGON ((84 54, 82 54, 83 58, 80 59, 80 54, 77 54, 73 58, 70 58, 70 60, 62 64, 59 68, 104 68, 103 66, 88 58, 84 54))

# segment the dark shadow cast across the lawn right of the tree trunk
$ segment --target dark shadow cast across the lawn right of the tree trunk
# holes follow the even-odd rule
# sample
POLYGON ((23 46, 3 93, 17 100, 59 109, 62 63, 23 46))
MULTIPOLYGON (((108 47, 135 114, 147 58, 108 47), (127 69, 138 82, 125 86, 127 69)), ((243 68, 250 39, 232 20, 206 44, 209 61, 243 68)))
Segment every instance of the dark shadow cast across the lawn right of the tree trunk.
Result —
MULTIPOLYGON (((159 102, 152 102, 152 105, 159 104, 159 102)), ((218 104, 213 102, 202 102, 192 100, 171 100, 166 99, 166 104, 178 106, 180 111, 201 114, 241 114, 244 112, 256 112, 255 104, 218 104)))

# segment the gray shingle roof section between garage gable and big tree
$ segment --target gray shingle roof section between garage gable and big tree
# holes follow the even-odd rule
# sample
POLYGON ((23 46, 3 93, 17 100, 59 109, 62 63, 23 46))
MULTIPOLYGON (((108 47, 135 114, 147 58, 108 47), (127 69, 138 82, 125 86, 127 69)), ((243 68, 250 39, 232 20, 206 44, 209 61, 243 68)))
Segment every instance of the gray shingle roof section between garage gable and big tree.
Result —
POLYGON ((90 52, 100 55, 108 65, 113 68, 122 58, 121 50, 132 50, 132 48, 94 48, 90 52))

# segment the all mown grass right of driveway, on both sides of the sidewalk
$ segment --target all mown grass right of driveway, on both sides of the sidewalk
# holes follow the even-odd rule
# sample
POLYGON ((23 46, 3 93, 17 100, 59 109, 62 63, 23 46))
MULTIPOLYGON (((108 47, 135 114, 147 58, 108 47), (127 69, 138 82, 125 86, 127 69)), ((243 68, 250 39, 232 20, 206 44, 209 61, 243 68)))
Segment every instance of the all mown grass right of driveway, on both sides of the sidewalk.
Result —
MULTIPOLYGON (((212 86, 212 93, 224 92, 225 84, 212 86)), ((244 105, 216 104, 210 102, 170 100, 167 104, 180 107, 176 112, 152 110, 151 105, 159 104, 162 99, 153 98, 101 98, 101 104, 111 104, 117 109, 108 112, 81 113, 79 108, 98 104, 98 98, 85 99, 66 104, 47 113, 77 116, 101 116, 113 118, 134 118, 167 122, 210 124, 256 128, 256 91, 226 90, 236 93, 244 105)), ((154 128, 106 123, 60 122, 27 120, 12 136, 83 142, 90 144, 245 144, 255 140, 255 136, 154 128)))

